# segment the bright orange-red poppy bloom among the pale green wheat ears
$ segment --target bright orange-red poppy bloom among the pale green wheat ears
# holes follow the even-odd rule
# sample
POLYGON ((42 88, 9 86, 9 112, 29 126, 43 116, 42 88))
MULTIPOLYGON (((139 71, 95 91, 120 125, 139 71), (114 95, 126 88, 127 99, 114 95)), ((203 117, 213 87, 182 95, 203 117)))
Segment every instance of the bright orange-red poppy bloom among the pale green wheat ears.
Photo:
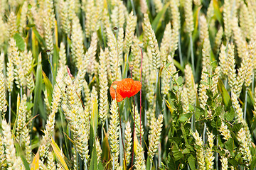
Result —
POLYGON ((126 97, 132 97, 142 89, 142 84, 139 81, 127 78, 121 81, 114 81, 110 86, 110 95, 113 100, 116 98, 116 94, 113 88, 113 84, 117 84, 117 101, 120 102, 126 97))

